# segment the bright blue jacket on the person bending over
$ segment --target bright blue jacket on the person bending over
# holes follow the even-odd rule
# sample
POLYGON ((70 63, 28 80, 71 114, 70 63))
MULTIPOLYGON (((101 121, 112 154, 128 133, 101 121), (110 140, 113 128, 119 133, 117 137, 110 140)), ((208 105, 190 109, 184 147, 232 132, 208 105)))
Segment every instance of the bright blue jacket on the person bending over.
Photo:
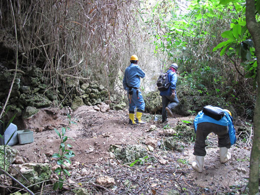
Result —
MULTIPOLYGON (((224 111, 224 110, 223 110, 224 111)), ((235 137, 235 129, 232 122, 232 116, 228 114, 228 112, 224 111, 225 114, 220 120, 215 120, 214 118, 211 118, 210 116, 204 114, 202 111, 199 111, 194 118, 193 125, 195 132, 197 130, 197 124, 201 122, 211 122, 215 124, 219 124, 222 126, 228 126, 228 134, 231 145, 235 143, 236 137, 235 137)))

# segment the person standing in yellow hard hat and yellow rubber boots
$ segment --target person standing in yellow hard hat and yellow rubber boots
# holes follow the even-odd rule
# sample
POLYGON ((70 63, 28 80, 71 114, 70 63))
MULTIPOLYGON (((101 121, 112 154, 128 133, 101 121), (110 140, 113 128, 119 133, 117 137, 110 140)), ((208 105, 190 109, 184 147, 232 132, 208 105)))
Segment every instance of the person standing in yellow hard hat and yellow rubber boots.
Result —
POLYGON ((123 88, 127 90, 129 101, 129 124, 145 123, 141 120, 145 103, 141 92, 138 89, 140 87, 140 78, 143 78, 145 73, 141 70, 137 63, 138 57, 136 55, 132 55, 130 57, 130 65, 125 69, 123 77, 123 88), (134 110, 136 107, 136 121, 134 121, 134 110))

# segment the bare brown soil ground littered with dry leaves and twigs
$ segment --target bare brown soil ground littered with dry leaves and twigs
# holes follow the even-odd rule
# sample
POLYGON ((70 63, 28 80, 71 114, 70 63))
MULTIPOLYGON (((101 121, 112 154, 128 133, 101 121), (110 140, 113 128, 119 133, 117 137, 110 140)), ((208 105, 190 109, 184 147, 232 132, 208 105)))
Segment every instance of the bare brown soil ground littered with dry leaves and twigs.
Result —
MULTIPOLYGON (((42 110, 30 119, 30 128, 34 131, 32 143, 14 145, 23 156, 25 162, 47 162, 54 168, 56 158, 51 155, 59 148, 60 139, 53 130, 59 132, 68 124, 67 110, 42 110), (39 131, 39 132, 36 132, 39 131)), ((193 144, 179 142, 182 151, 165 150, 158 146, 166 134, 163 134, 165 124, 157 121, 146 121, 142 125, 128 124, 127 110, 108 110, 100 112, 93 106, 81 106, 73 111, 71 118, 76 124, 71 124, 66 135, 66 141, 74 151, 69 165, 70 177, 68 185, 60 193, 72 194, 72 187, 85 187, 92 194, 167 194, 175 189, 179 194, 246 194, 245 189, 249 174, 249 147, 237 141, 229 149, 231 159, 222 164, 219 161, 217 137, 208 136, 208 146, 204 159, 202 173, 191 168, 195 156, 193 144), (150 125, 156 125, 156 130, 149 131, 150 125), (164 127, 164 128, 163 128, 164 127), (129 145, 142 144, 153 146, 149 155, 158 159, 157 162, 145 162, 129 166, 114 159, 108 149, 111 144, 129 145), (107 175, 114 178, 113 186, 99 186, 95 183, 97 177, 107 175)), ((177 121, 191 120, 193 117, 175 116, 169 118, 168 126, 174 128, 177 121)), ((57 178, 53 172, 52 178, 57 178)), ((45 194, 56 194, 45 187, 45 194)))

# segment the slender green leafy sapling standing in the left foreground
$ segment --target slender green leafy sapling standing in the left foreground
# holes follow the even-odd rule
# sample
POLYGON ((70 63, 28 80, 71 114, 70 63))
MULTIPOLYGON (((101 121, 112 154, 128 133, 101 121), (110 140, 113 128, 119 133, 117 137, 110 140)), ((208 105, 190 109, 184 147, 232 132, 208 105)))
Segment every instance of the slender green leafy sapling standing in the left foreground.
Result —
POLYGON ((63 186, 63 182, 65 180, 65 175, 70 176, 69 172, 67 171, 65 162, 71 164, 71 161, 69 160, 70 157, 73 157, 75 154, 72 150, 69 150, 67 148, 72 147, 70 144, 65 144, 68 137, 65 135, 66 130, 69 130, 69 126, 71 123, 75 124, 74 121, 71 121, 70 115, 67 113, 68 117, 68 124, 66 127, 61 127, 61 133, 54 128, 56 134, 60 138, 60 145, 58 149, 58 153, 54 153, 52 157, 57 158, 57 164, 59 167, 57 167, 54 172, 56 172, 59 176, 58 181, 54 182, 53 189, 56 190, 57 188, 61 189, 63 186), (63 173, 63 174, 62 174, 63 173))

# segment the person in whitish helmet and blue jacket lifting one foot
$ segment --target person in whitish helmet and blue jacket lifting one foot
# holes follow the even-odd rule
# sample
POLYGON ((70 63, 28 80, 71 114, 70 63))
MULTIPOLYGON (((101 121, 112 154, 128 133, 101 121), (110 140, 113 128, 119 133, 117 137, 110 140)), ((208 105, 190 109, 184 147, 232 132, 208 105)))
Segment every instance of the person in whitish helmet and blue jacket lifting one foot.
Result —
POLYGON ((169 117, 173 116, 172 109, 176 107, 179 102, 176 94, 177 69, 178 69, 178 65, 176 63, 172 63, 169 66, 167 73, 168 73, 168 81, 170 85, 167 90, 160 91, 160 96, 162 99, 162 110, 161 110, 162 123, 168 121, 167 116, 169 117))

